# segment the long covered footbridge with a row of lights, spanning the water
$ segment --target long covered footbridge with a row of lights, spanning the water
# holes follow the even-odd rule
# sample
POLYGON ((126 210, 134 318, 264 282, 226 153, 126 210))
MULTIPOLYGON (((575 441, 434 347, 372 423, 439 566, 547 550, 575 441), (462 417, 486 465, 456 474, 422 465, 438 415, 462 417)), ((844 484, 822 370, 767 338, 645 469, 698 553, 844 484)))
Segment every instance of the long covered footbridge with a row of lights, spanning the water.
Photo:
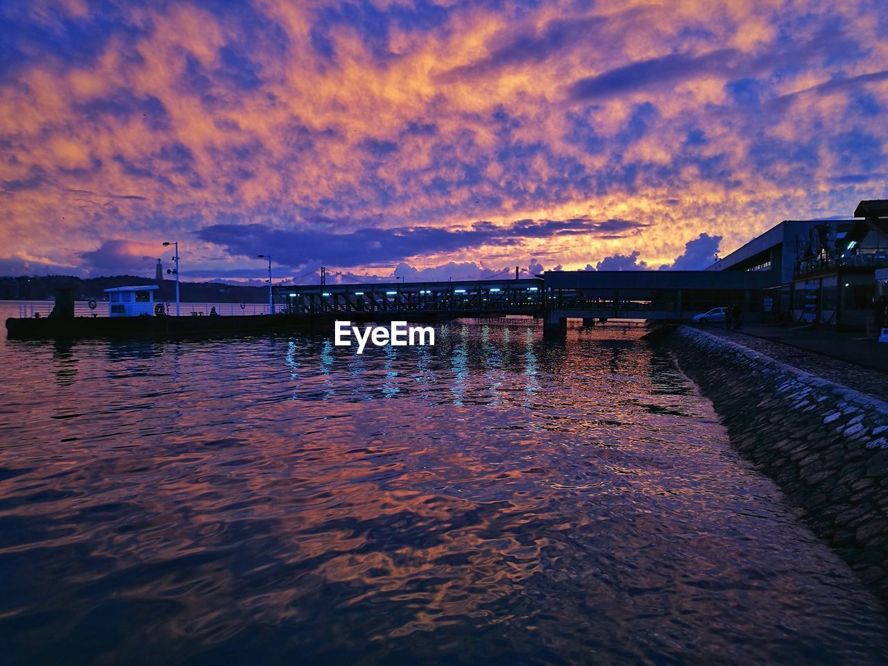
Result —
POLYGON ((521 280, 277 285, 274 292, 287 313, 422 320, 530 314, 559 335, 569 318, 681 320, 733 304, 754 319, 773 279, 770 271, 547 271, 521 280))

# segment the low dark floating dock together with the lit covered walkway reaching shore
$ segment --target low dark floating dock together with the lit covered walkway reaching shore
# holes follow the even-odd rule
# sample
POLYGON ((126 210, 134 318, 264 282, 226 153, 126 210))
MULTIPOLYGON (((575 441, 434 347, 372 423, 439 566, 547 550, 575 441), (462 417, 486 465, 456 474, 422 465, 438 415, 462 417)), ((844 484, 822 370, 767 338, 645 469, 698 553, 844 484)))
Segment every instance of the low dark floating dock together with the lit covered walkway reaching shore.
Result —
POLYGON ((586 325, 610 319, 685 320, 733 303, 756 317, 770 283, 768 272, 548 271, 520 280, 275 285, 273 316, 242 316, 233 305, 220 307, 217 317, 75 316, 84 314, 83 308, 69 308, 65 316, 11 318, 6 329, 10 337, 165 337, 321 327, 346 318, 428 322, 524 315, 543 321, 547 336, 559 336, 569 318, 586 325))

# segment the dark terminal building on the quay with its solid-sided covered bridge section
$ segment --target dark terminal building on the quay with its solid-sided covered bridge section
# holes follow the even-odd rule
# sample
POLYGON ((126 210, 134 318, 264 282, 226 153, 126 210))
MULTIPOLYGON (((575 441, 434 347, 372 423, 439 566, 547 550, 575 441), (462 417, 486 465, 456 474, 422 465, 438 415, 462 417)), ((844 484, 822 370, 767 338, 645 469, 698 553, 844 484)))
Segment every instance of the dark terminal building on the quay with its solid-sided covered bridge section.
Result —
POLYGON ((876 301, 888 297, 883 269, 888 201, 862 201, 853 218, 783 221, 702 271, 547 271, 543 316, 554 332, 570 318, 687 320, 737 308, 743 321, 872 334, 876 301))

